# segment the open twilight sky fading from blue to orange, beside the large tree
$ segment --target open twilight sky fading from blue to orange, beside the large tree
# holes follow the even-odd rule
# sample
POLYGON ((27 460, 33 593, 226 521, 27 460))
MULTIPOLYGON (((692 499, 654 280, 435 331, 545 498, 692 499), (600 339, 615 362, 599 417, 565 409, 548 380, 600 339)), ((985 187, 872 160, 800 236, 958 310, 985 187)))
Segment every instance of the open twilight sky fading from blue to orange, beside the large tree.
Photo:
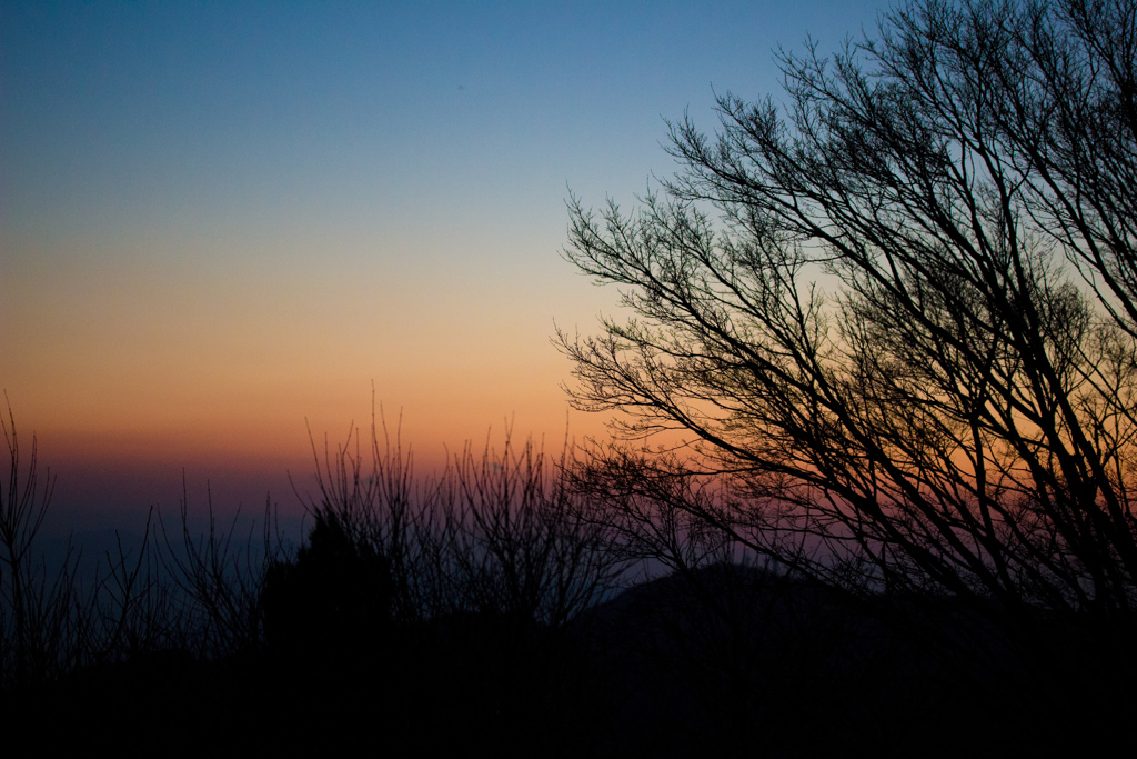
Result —
MULTIPOLYGON (((372 398, 420 471, 570 411, 617 294, 570 192, 636 205, 665 119, 775 98, 883 1, 0 2, 0 388, 53 510, 259 509, 372 398)), ((2 409, 2 406, 0 406, 2 409)))

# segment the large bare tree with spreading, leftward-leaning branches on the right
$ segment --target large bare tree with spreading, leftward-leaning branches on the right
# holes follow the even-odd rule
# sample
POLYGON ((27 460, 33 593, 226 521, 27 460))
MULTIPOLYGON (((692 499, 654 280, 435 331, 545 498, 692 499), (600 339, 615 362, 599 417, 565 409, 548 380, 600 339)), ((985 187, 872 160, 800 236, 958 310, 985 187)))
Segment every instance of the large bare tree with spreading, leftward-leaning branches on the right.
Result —
POLYGON ((639 211, 571 199, 566 257, 634 312, 558 336, 575 404, 624 412, 581 478, 608 520, 714 479, 669 508, 866 597, 956 599, 1047 676, 1044 616, 1131 668, 1135 47, 1131 0, 915 0, 783 53, 781 101, 720 97, 715 138, 672 124, 639 211))

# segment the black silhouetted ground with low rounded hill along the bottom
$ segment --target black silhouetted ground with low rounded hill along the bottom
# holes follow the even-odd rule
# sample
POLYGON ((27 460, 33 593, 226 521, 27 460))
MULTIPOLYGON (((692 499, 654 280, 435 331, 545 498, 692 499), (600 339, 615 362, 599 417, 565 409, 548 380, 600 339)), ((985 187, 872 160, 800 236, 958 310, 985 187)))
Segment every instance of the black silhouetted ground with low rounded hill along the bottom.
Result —
POLYGON ((640 585, 561 630, 473 613, 306 627, 221 661, 165 652, 89 668, 10 694, 2 713, 22 745, 126 754, 1130 750, 1135 699, 1121 670, 1084 649, 1062 653, 1053 630, 1026 661, 962 612, 919 605, 904 614, 938 629, 901 629, 810 583, 716 566, 640 585))

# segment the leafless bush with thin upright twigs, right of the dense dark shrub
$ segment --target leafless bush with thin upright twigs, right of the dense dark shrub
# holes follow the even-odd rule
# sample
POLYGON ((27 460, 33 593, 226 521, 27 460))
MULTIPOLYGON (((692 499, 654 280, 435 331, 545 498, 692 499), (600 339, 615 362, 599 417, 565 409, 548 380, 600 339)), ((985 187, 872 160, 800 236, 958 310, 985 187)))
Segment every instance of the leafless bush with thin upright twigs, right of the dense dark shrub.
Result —
POLYGON ((316 493, 293 489, 312 517, 334 519, 385 559, 398 621, 479 612, 563 627, 625 564, 607 530, 572 508, 567 451, 557 462, 507 432, 500 453, 467 445, 437 477, 416 478, 382 416, 373 414, 367 453, 359 438, 352 427, 334 453, 325 440, 323 461, 313 443, 316 493))

